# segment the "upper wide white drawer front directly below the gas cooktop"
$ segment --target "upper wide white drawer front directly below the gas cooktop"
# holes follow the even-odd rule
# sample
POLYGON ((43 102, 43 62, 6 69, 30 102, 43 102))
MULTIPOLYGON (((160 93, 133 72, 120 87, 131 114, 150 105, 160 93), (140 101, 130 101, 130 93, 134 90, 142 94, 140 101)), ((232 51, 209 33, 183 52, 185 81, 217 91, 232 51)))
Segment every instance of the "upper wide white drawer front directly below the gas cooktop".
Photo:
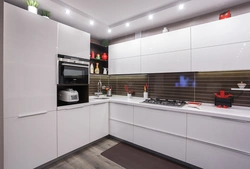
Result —
POLYGON ((186 137, 186 114, 134 108, 134 124, 186 137))

